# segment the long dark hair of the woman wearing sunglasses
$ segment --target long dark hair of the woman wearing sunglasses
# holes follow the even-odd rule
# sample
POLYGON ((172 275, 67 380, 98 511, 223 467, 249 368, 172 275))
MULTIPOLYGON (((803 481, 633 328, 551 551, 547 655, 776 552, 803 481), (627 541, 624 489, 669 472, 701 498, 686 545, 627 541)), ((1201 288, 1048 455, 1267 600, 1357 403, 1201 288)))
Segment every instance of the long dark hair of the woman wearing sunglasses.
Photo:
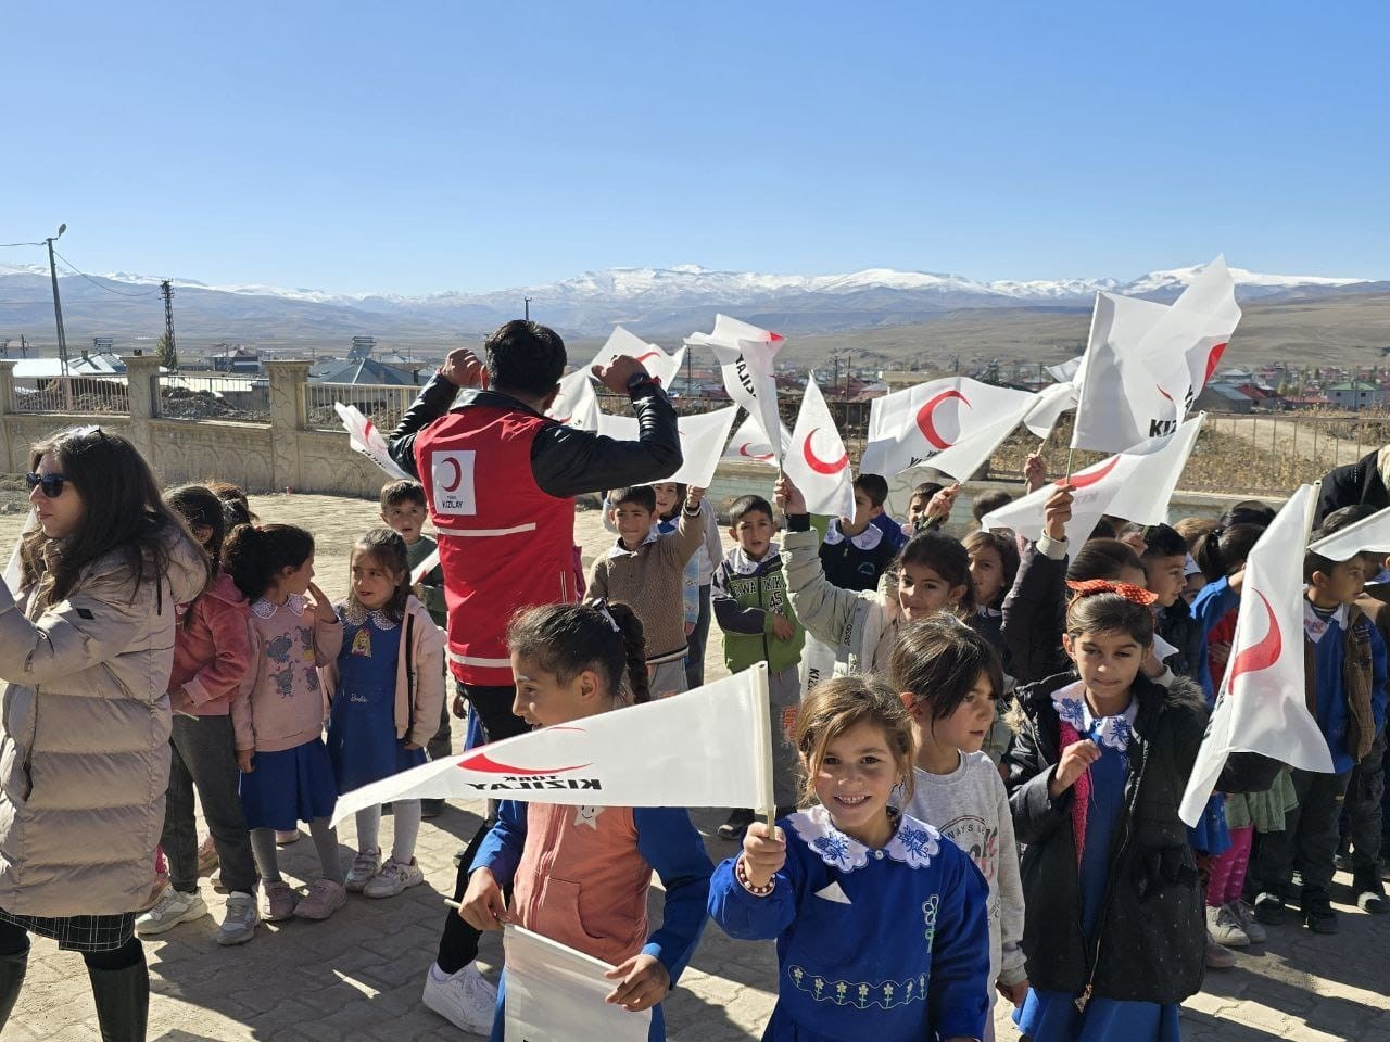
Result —
MULTIPOLYGON (((72 483, 86 510, 78 531, 61 540, 63 552, 51 564, 43 556, 49 543, 43 529, 29 532, 19 545, 21 588, 29 589, 42 581, 43 603, 56 604, 67 597, 81 571, 108 553, 120 553, 133 572, 133 600, 142 582, 161 581, 168 574, 172 536, 197 546, 183 518, 160 495, 145 457, 121 435, 100 427, 60 431, 33 446, 29 468, 38 471, 44 456, 51 457, 63 478, 72 483)), ((211 578, 210 565, 207 578, 211 578)))

